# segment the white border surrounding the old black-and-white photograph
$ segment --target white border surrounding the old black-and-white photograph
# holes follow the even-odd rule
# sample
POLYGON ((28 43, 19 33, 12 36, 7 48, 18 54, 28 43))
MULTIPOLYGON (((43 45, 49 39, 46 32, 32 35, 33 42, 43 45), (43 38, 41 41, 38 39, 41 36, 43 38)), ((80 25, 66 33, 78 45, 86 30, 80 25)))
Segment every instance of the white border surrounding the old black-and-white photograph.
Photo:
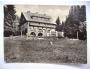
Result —
POLYGON ((0 1, 0 68, 4 69, 85 69, 90 68, 90 2, 77 0, 3 0, 0 1), (36 4, 36 5, 86 5, 87 15, 87 64, 44 64, 44 63, 5 63, 3 40, 3 5, 5 4, 36 4))

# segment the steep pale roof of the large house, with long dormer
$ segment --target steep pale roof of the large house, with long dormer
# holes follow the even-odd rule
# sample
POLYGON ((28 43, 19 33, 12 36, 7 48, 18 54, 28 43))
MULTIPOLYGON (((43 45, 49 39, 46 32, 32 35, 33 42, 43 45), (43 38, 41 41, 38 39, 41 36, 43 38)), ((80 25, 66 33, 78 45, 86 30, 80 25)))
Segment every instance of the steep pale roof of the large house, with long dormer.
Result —
MULTIPOLYGON (((39 13, 31 13, 30 11, 27 11, 27 12, 25 12, 25 13, 21 13, 21 17, 24 17, 24 19, 26 20, 26 21, 31 21, 31 22, 40 22, 40 23, 51 23, 51 24, 53 24, 52 22, 51 22, 51 17, 50 16, 47 16, 46 14, 39 14, 39 13), (34 18, 32 18, 32 17, 41 17, 41 18, 44 18, 45 20, 41 20, 41 19, 34 19, 34 18), (48 19, 48 20, 46 20, 46 19, 48 19)), ((22 18, 21 18, 22 19, 22 18)), ((21 21, 22 22, 22 21, 21 21)))

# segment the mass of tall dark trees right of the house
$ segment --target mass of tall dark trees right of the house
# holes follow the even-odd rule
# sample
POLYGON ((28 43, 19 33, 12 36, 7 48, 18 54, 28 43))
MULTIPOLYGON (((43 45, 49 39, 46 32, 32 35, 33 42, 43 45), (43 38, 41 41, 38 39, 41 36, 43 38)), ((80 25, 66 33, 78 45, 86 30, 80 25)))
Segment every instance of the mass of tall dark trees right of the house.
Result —
POLYGON ((69 38, 86 39, 86 10, 85 6, 72 6, 65 21, 65 36, 69 38), (81 36, 82 38, 81 38, 81 36))

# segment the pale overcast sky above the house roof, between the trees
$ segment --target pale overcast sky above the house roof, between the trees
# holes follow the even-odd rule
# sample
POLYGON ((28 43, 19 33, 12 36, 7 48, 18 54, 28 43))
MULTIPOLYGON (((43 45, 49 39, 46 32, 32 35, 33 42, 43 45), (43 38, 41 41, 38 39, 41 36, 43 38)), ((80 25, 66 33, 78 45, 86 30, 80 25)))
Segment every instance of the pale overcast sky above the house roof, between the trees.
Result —
POLYGON ((69 13, 70 6, 66 5, 15 5, 16 14, 20 17, 21 12, 31 11, 39 14, 47 14, 52 17, 52 22, 55 23, 59 16, 61 21, 65 21, 69 13))

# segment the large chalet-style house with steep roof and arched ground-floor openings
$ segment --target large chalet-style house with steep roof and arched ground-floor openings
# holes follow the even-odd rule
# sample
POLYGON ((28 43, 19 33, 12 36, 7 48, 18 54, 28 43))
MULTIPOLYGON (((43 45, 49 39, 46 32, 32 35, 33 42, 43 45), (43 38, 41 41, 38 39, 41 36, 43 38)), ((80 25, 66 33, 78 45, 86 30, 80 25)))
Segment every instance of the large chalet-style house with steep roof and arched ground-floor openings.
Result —
POLYGON ((30 11, 21 13, 20 30, 22 35, 56 36, 55 28, 56 24, 52 23, 51 17, 46 14, 32 13, 30 11))

